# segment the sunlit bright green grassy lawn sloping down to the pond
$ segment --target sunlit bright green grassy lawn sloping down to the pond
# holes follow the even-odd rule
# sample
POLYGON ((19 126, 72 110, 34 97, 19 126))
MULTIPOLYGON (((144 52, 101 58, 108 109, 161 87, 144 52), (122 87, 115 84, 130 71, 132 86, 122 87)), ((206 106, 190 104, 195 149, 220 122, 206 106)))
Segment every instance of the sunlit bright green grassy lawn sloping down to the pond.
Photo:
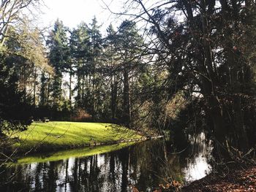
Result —
POLYGON ((41 151, 82 147, 94 142, 140 138, 135 131, 110 123, 49 122, 32 123, 26 131, 12 134, 13 147, 21 151, 41 151))

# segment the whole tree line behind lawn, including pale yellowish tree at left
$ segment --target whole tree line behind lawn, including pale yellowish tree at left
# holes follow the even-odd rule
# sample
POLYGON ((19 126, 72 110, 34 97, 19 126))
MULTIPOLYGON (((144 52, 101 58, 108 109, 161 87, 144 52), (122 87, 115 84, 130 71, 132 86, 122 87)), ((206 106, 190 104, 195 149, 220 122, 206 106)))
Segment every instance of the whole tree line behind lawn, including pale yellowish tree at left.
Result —
POLYGON ((153 83, 135 22, 110 25, 103 37, 96 18, 72 29, 56 20, 45 35, 20 18, 2 40, 1 130, 45 117, 135 125, 140 92, 153 83))

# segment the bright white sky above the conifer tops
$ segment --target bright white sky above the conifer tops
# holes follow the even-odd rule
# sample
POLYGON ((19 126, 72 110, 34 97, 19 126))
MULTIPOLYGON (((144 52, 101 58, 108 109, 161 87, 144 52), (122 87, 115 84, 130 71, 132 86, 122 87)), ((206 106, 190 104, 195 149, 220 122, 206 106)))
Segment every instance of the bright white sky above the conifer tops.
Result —
MULTIPOLYGON (((129 16, 120 16, 110 12, 120 13, 124 9, 129 7, 129 13, 134 14, 138 12, 138 4, 135 6, 131 4, 125 4, 131 2, 128 0, 42 0, 44 6, 40 7, 41 13, 39 14, 39 26, 42 28, 49 28, 53 26, 55 21, 59 18, 64 23, 64 26, 69 28, 76 28, 81 22, 87 24, 91 23, 94 16, 97 18, 98 25, 101 26, 102 34, 106 33, 106 29, 110 25, 114 28, 118 28, 121 22, 129 16), (106 6, 108 5, 108 7, 106 6), (126 8, 124 8, 126 7, 126 8), (132 9, 131 9, 132 7, 132 9), (110 10, 109 10, 109 9, 110 10)), ((144 0, 143 3, 146 7, 151 7, 161 1, 159 0, 144 0)), ((139 22, 138 28, 143 27, 145 23, 139 22)))

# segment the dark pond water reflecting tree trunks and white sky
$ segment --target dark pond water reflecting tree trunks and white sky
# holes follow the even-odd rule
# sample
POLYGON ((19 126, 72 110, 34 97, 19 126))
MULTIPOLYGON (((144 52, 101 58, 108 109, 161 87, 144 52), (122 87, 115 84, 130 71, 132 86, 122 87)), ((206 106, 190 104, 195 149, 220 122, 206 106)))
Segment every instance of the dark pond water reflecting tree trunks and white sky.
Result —
POLYGON ((178 153, 171 142, 141 142, 118 151, 0 168, 0 191, 153 191, 161 183, 189 183, 210 172, 204 135, 178 153))

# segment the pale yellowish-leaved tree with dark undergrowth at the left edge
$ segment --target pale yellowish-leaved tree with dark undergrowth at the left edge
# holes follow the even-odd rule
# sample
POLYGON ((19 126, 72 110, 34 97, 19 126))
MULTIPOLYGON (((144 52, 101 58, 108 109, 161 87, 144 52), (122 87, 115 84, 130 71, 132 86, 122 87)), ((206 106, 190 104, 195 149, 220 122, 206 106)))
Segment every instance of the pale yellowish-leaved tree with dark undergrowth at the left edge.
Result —
POLYGON ((30 23, 9 28, 0 55, 1 128, 8 127, 4 120, 11 129, 26 126, 32 115, 31 104, 37 102, 37 72, 52 72, 39 31, 30 23))

